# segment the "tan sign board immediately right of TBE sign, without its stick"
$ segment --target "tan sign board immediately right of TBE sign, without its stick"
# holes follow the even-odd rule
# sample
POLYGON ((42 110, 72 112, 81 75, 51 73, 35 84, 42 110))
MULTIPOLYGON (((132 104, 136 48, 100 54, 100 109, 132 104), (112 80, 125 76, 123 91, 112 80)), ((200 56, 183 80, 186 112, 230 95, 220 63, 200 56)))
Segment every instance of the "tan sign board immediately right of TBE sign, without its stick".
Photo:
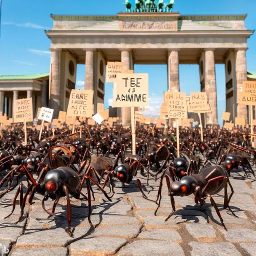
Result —
POLYGON ((167 98, 168 117, 187 118, 186 93, 169 92, 165 96, 167 98))

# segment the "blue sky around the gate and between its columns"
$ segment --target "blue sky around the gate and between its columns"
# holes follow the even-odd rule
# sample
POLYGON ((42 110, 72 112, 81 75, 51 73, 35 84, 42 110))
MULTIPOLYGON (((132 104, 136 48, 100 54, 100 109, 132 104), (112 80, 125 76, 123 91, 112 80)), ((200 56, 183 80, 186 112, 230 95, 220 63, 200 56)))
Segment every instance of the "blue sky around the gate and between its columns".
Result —
MULTIPOLYGON (((134 4, 134 0, 130 0, 134 4)), ((167 0, 165 0, 167 1, 167 0)), ((44 29, 52 27, 53 14, 116 14, 124 11, 124 0, 2 0, 0 74, 32 74, 49 71, 50 40, 44 29)), ((157 0, 156 0, 157 2, 157 0)), ((176 0, 181 14, 245 14, 245 26, 256 28, 256 0, 176 0)), ((256 35, 248 39, 247 70, 256 70, 256 35)), ((216 66, 218 121, 225 109, 224 65, 216 66)), ((150 113, 157 113, 162 91, 167 88, 166 65, 135 65, 136 73, 149 74, 150 113)), ((180 90, 199 91, 197 65, 180 65, 180 90)), ((84 80, 84 65, 77 66, 77 86, 84 80)), ((80 85, 81 86, 81 85, 80 85)), ((105 107, 112 97, 112 83, 105 85, 105 107)))

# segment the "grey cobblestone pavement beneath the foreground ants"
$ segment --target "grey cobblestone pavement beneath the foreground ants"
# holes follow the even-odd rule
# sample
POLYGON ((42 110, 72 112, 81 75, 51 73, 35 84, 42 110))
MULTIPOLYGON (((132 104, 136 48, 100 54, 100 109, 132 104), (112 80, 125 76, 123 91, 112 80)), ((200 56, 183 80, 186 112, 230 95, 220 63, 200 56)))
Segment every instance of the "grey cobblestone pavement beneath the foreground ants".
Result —
MULTIPOLYGON (((223 192, 215 195, 227 231, 209 200, 200 208, 192 196, 175 197, 175 215, 164 221, 171 211, 166 184, 161 207, 154 216, 156 204, 142 198, 136 181, 122 186, 115 183, 112 201, 94 188, 90 226, 87 202, 71 198, 73 238, 65 230, 66 200, 61 198, 57 216, 49 217, 41 207, 42 196, 36 194, 32 205, 25 207, 25 217, 13 224, 19 215, 19 201, 12 208, 15 191, 0 199, 0 243, 9 255, 256 255, 256 181, 242 179, 242 172, 230 178, 234 194, 230 206, 238 216, 222 208, 223 192)), ((149 198, 155 199, 159 180, 138 175, 149 198)), ((24 181, 24 184, 26 182, 24 181)), ((108 188, 106 188, 108 189, 108 188)), ((228 190, 230 193, 230 190, 228 190)), ((19 198, 19 197, 18 197, 19 198)), ((50 208, 52 201, 47 201, 50 208)))

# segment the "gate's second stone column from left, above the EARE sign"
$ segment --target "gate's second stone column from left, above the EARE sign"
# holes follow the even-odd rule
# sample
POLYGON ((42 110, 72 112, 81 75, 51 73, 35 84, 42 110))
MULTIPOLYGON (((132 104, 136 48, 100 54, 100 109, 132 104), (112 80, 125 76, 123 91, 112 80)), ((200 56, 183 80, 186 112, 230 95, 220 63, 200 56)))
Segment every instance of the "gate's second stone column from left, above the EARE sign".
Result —
POLYGON ((85 79, 84 79, 84 89, 93 90, 94 89, 94 51, 95 49, 86 50, 85 53, 85 79))

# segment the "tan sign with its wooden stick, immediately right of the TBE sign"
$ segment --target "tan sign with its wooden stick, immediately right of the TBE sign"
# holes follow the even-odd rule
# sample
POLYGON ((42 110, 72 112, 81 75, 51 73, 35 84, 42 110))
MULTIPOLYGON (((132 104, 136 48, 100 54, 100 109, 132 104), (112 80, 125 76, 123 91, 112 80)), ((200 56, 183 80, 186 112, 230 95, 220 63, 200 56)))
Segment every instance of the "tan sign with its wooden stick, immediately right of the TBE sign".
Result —
POLYGON ((165 97, 167 99, 168 117, 176 119, 177 157, 180 157, 178 120, 187 118, 186 93, 167 91, 165 97))

